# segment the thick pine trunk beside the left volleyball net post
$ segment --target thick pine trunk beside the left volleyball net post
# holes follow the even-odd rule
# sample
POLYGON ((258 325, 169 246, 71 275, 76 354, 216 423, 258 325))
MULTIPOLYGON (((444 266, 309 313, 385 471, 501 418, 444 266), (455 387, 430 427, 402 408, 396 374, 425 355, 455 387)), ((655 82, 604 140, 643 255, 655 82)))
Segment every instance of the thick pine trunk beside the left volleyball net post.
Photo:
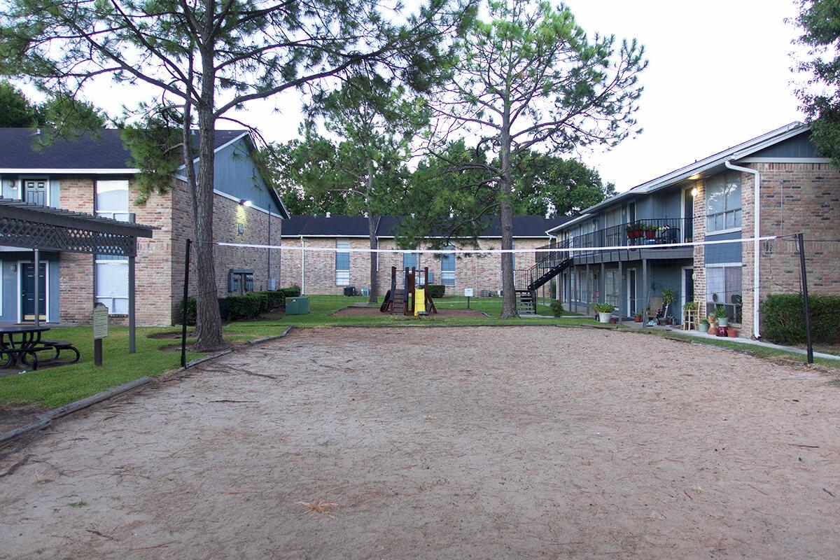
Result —
MULTIPOLYGON (((202 52, 202 68, 213 68, 213 56, 202 52)), ((213 159, 215 156, 215 76, 207 71, 198 104, 198 181, 196 191, 196 337, 193 348, 209 352, 224 348, 222 319, 218 312, 216 267, 213 259, 213 159)), ((187 161, 186 165, 192 165, 187 161)))

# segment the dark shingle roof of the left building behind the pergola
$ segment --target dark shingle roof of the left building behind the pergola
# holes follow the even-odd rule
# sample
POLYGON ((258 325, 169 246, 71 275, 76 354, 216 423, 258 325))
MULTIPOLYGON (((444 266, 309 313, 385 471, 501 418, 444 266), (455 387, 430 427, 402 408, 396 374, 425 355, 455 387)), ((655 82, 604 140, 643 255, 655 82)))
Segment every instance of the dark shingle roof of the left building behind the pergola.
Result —
MULTIPOLYGON (((216 148, 244 132, 217 130, 216 148)), ((35 139, 32 128, 0 128, 0 169, 130 169, 129 150, 123 147, 116 128, 103 128, 77 139, 55 139, 42 149, 34 148, 35 139)))

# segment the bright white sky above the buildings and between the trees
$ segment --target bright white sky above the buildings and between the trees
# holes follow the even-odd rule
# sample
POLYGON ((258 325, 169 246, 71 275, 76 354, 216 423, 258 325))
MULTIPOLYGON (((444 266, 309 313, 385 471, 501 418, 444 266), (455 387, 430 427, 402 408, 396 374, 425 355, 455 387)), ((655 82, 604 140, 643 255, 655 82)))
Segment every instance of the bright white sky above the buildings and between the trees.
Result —
MULTIPOLYGON (((649 65, 637 113, 643 133, 610 151, 583 154, 604 181, 626 191, 796 120, 790 67, 797 34, 785 18, 795 0, 566 0, 589 34, 637 38, 649 65)), ((113 114, 130 92, 108 86, 88 97, 113 114)), ((251 102, 232 116, 269 141, 297 136, 297 92, 251 102)), ((238 128, 220 122, 218 128, 238 128)))

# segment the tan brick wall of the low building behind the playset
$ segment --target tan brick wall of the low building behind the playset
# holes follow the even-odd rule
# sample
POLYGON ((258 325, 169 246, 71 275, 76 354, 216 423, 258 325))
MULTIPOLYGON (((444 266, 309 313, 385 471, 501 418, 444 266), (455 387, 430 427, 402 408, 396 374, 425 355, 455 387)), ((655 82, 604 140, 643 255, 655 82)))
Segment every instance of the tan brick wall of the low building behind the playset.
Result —
MULTIPOLYGON (((351 248, 367 249, 367 238, 303 238, 305 247, 335 247, 337 240, 348 241, 351 248)), ((517 249, 536 249, 548 243, 547 238, 517 238, 517 249)), ((284 238, 283 245, 300 246, 301 238, 284 238)), ((482 239, 480 249, 499 249, 501 239, 482 239)), ((380 249, 397 249, 391 238, 380 238, 380 249)), ((459 249, 471 249, 468 246, 459 249)), ((370 257, 366 253, 350 253, 350 283, 357 289, 370 286, 370 257)), ((307 294, 341 294, 344 286, 335 285, 335 252, 305 251, 301 275, 301 251, 282 251, 281 285, 302 285, 307 294)), ((516 268, 528 269, 534 263, 534 254, 517 254, 516 268)), ((402 270, 402 253, 380 253, 378 264, 378 285, 380 296, 391 288, 391 267, 402 270)), ((441 283, 441 259, 433 254, 417 254, 417 269, 428 266, 433 283, 441 283)), ((463 294, 464 288, 480 290, 501 290, 501 257, 498 254, 459 255, 455 260, 455 285, 447 286, 449 294, 463 294)))

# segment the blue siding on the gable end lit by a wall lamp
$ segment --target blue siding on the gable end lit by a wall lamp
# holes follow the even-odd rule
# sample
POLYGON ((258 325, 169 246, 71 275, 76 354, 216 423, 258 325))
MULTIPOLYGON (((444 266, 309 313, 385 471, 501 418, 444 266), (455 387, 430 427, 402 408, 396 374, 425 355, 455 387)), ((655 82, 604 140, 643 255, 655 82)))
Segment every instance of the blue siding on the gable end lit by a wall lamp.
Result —
POLYGON ((254 206, 280 213, 269 187, 251 160, 251 148, 246 139, 239 139, 216 153, 213 166, 213 187, 240 200, 249 200, 254 206))

